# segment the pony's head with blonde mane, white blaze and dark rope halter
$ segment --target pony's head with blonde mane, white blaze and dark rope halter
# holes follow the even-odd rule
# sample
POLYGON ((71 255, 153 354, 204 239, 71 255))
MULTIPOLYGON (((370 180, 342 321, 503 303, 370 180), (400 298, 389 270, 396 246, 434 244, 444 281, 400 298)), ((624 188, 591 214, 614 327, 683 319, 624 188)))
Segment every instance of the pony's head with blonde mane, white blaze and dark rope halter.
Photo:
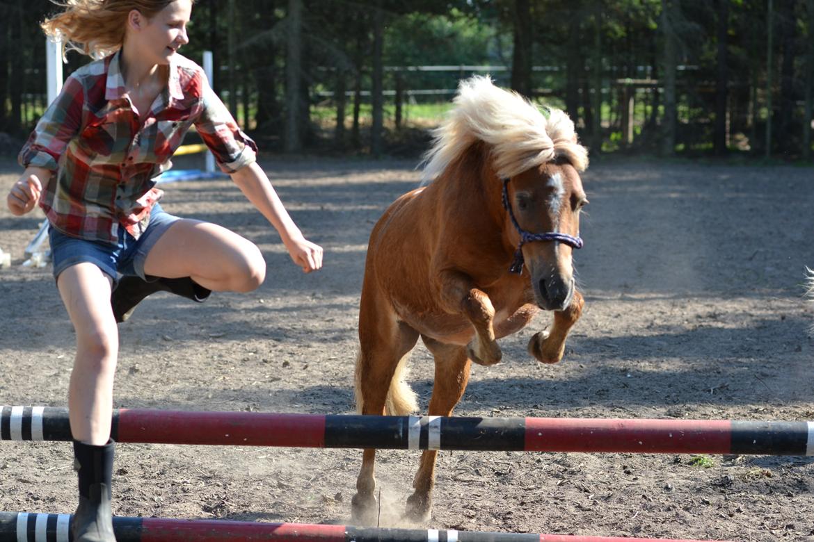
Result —
POLYGON ((422 180, 433 180, 483 141, 493 182, 504 184, 505 238, 518 247, 512 270, 525 265, 538 306, 564 309, 574 293, 571 251, 582 244, 580 209, 588 202, 580 180, 588 151, 577 142, 574 123, 565 112, 540 111, 483 76, 463 80, 454 103, 435 129, 422 180))

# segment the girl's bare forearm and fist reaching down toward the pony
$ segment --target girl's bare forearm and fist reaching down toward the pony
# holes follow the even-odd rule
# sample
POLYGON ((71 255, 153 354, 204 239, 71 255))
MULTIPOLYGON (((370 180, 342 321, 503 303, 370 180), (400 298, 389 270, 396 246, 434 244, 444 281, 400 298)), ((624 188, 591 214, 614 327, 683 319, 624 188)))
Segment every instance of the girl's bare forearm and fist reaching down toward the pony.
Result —
POLYGON ((300 228, 297 228, 286 208, 282 206, 269 177, 257 163, 234 172, 232 180, 249 202, 252 202, 252 205, 274 226, 291 259, 302 267, 304 272, 310 273, 322 267, 322 247, 305 239, 300 228))

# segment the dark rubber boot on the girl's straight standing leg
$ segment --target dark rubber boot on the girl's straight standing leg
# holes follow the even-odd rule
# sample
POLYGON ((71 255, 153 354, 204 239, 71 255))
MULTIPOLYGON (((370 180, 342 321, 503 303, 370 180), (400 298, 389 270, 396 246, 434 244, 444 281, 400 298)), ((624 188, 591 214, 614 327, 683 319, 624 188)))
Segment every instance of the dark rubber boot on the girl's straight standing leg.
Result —
POLYGON ((110 508, 116 443, 91 446, 73 441, 73 468, 79 475, 79 505, 73 514, 74 542, 116 542, 110 508))

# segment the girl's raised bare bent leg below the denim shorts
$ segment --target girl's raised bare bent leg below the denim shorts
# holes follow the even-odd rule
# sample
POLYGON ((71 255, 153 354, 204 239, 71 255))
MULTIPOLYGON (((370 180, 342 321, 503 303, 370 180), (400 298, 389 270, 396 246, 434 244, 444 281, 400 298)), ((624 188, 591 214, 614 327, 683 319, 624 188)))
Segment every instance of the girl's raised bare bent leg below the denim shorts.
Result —
POLYGON ((147 254, 144 272, 168 279, 188 276, 218 292, 251 292, 265 279, 265 261, 260 249, 238 234, 182 219, 147 254))

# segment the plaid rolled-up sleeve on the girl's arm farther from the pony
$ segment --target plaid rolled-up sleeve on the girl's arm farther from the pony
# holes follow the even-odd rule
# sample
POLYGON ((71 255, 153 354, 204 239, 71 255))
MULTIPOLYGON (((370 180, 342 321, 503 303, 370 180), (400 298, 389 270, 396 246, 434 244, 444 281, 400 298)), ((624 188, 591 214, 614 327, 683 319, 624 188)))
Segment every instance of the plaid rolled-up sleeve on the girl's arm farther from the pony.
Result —
POLYGON ((48 106, 20 150, 17 157, 20 165, 56 171, 59 158, 79 132, 84 103, 85 89, 79 80, 69 76, 59 96, 48 106))

